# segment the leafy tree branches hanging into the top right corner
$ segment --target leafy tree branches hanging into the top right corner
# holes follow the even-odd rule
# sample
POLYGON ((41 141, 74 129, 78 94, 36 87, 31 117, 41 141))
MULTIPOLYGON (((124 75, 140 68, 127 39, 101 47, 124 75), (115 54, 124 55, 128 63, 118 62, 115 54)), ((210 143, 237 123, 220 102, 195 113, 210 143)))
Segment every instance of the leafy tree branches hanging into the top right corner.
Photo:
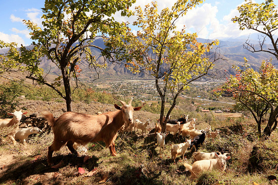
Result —
POLYGON ((278 38, 275 34, 278 30, 278 10, 273 0, 266 0, 261 4, 253 3, 251 0, 245 0, 246 3, 238 6, 239 17, 232 18, 234 23, 239 24, 239 29, 249 29, 259 32, 259 47, 250 43, 249 40, 243 45, 251 52, 268 52, 278 59, 278 38), (264 46, 266 39, 269 38, 273 48, 264 46))

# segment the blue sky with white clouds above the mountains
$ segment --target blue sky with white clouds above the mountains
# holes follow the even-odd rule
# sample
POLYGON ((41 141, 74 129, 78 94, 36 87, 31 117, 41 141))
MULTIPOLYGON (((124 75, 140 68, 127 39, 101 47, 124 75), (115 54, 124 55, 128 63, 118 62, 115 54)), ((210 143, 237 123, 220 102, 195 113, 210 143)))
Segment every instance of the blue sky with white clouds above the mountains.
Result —
MULTIPOLYGON (((134 6, 144 6, 153 0, 137 0, 134 6)), ((157 0, 159 9, 171 7, 175 0, 157 0)), ((204 39, 229 39, 239 36, 248 36, 249 31, 240 31, 231 18, 238 15, 236 7, 244 0, 205 0, 202 4, 188 11, 178 27, 184 25, 187 32, 196 32, 204 39)), ((263 0, 256 0, 261 3, 263 0)), ((278 5, 278 0, 274 1, 278 5)), ((41 25, 41 8, 44 0, 0 0, 0 40, 30 45, 29 31, 22 20, 31 20, 41 25)), ((118 15, 116 15, 118 16, 118 15)), ((132 22, 135 17, 119 18, 119 20, 132 22)), ((136 30, 134 30, 136 32, 136 30)))

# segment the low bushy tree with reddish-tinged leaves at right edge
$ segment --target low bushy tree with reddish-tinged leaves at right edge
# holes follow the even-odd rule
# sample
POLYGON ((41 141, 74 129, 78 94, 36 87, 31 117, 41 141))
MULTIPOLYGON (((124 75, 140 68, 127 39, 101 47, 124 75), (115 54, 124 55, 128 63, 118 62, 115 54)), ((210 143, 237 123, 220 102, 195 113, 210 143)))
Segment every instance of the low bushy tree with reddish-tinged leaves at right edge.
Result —
POLYGON ((257 122, 259 134, 263 117, 269 115, 264 134, 270 136, 277 127, 278 69, 270 61, 263 61, 260 71, 257 72, 250 68, 246 59, 243 69, 235 69, 237 74, 231 76, 217 93, 228 91, 233 99, 237 100, 237 110, 249 110, 257 122))

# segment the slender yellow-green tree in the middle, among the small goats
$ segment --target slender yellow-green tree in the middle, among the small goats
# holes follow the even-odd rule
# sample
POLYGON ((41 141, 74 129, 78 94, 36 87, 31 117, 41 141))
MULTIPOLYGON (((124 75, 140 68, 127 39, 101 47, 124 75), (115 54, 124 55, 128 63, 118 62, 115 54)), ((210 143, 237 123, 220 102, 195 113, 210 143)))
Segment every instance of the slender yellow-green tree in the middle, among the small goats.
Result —
POLYGON ((133 23, 140 31, 130 30, 111 36, 106 43, 108 51, 118 60, 125 60, 126 67, 134 73, 144 72, 155 80, 161 98, 160 123, 162 123, 166 96, 173 99, 167 117, 176 105, 178 95, 188 84, 207 74, 213 62, 207 53, 218 41, 198 43, 197 34, 177 30, 177 21, 202 0, 178 0, 174 6, 157 10, 157 3, 136 7, 137 20, 133 23))

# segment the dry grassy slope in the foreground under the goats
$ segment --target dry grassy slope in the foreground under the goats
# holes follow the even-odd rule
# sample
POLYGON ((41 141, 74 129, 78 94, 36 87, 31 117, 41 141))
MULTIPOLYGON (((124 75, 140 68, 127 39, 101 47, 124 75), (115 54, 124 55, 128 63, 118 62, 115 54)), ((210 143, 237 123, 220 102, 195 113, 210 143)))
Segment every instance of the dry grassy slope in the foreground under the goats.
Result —
MULTIPOLYGON (((51 111, 54 116, 63 112, 63 102, 42 100, 21 100, 21 108, 28 109, 28 115, 51 111)), ((98 102, 74 103, 76 112, 95 114, 97 111, 113 111, 111 104, 98 102)), ((158 114, 135 111, 135 118, 151 119, 148 131, 154 128, 158 114)), ((227 161, 227 170, 205 172, 197 180, 189 180, 190 173, 185 172, 183 163, 192 164, 190 151, 186 151, 186 160, 181 157, 174 163, 171 160, 171 145, 185 139, 167 135, 164 155, 159 154, 154 134, 141 136, 139 132, 119 132, 116 139, 118 156, 110 156, 108 148, 101 141, 89 143, 88 152, 81 151, 80 156, 71 155, 66 147, 54 152, 54 164, 50 168, 46 162, 47 146, 53 140, 52 131, 32 136, 27 144, 9 144, 5 140, 0 145, 0 184, 13 185, 275 185, 277 181, 268 181, 268 176, 278 176, 278 134, 273 132, 270 139, 260 141, 252 119, 244 117, 218 117, 204 113, 191 113, 190 117, 198 117, 198 129, 211 125, 212 129, 220 129, 221 134, 214 141, 206 139, 199 151, 212 152, 221 148, 231 152, 227 161), (84 162, 86 158, 88 158, 84 162), (81 174, 79 169, 85 170, 81 174)), ((148 132, 147 132, 148 133, 148 132)))

